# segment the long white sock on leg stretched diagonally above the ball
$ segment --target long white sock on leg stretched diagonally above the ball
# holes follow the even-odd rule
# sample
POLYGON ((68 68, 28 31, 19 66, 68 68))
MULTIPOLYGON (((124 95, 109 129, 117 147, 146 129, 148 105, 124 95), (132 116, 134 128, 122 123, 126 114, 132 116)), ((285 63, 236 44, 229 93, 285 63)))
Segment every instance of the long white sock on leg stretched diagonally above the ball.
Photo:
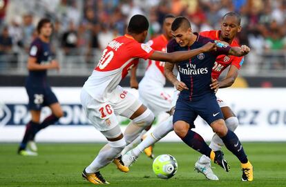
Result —
POLYGON ((140 153, 144 151, 145 148, 155 144, 157 141, 165 137, 169 132, 173 130, 173 116, 170 116, 166 121, 163 121, 161 124, 156 126, 151 132, 147 135, 146 138, 133 148, 132 152, 135 157, 139 157, 140 153))

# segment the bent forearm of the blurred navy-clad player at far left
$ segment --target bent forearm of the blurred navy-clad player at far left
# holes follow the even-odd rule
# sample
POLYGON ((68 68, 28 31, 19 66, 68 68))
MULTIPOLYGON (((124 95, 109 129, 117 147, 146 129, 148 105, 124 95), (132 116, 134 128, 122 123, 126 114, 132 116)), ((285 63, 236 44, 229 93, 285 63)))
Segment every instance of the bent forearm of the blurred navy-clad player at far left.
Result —
POLYGON ((27 63, 28 70, 48 70, 48 69, 59 69, 59 63, 57 61, 51 61, 47 64, 39 64, 37 63, 37 59, 35 57, 29 57, 27 63))

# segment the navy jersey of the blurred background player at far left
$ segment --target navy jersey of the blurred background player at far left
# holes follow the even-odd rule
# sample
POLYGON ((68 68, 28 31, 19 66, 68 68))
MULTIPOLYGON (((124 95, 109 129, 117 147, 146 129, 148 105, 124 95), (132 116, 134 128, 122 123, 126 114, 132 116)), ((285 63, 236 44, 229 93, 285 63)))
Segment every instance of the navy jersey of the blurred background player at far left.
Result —
MULTIPOLYGON (((52 53, 50 50, 50 43, 41 41, 37 38, 32 41, 30 45, 30 57, 35 57, 37 63, 44 64, 50 63, 52 60, 52 53)), ((26 86, 46 86, 47 70, 29 70, 29 76, 26 86)))

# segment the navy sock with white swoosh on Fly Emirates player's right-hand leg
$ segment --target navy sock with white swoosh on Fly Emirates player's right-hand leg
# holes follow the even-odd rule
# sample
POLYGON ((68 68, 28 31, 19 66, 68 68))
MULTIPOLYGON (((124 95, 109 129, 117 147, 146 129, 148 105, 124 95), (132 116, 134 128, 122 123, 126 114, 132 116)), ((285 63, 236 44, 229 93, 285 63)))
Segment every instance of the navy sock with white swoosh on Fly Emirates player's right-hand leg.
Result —
POLYGON ((221 137, 223 143, 230 150, 233 155, 236 155, 242 164, 247 163, 247 155, 245 155, 245 150, 243 150, 242 145, 236 134, 231 130, 227 131, 227 135, 225 137, 221 137))

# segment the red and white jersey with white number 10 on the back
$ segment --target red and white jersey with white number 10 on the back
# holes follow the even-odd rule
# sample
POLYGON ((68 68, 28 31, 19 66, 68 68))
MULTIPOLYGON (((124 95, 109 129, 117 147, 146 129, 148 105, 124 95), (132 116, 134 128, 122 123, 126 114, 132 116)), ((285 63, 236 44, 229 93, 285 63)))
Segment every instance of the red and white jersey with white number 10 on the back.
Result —
POLYGON ((138 58, 148 59, 153 52, 150 46, 137 42, 130 35, 113 39, 104 49, 102 58, 83 89, 97 101, 107 101, 108 93, 115 90, 128 70, 137 65, 138 58))

